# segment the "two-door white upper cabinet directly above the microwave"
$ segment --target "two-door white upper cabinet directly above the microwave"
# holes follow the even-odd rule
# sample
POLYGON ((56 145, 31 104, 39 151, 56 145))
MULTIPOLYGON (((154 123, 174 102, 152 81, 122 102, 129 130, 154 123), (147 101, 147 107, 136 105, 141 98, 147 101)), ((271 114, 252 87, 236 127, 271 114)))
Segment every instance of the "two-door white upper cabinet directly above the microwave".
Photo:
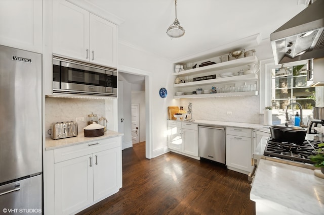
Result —
POLYGON ((64 0, 53 1, 53 53, 117 67, 117 26, 64 0))

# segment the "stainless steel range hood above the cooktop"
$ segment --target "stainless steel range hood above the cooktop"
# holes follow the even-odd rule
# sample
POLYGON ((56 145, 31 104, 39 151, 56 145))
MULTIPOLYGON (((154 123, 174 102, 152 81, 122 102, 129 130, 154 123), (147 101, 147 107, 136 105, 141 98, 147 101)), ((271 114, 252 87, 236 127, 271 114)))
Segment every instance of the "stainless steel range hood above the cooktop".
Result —
POLYGON ((275 64, 324 57, 324 0, 317 0, 271 33, 275 64))

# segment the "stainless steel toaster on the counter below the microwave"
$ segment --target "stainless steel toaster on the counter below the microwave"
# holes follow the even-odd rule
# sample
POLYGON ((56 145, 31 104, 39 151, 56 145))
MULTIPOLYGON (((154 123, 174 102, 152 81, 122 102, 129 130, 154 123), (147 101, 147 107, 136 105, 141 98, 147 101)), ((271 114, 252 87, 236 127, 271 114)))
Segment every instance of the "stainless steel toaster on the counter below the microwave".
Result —
POLYGON ((76 122, 61 122, 52 125, 52 139, 62 139, 77 136, 76 122))

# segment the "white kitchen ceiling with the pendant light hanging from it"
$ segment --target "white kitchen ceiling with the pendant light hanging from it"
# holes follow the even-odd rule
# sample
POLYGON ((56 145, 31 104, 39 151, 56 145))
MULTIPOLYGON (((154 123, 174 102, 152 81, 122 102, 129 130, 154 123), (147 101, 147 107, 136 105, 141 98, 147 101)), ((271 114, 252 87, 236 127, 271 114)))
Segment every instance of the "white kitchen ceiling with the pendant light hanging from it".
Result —
POLYGON ((305 9, 307 0, 177 0, 177 18, 185 35, 174 39, 166 34, 175 19, 174 0, 71 2, 96 6, 118 20, 119 42, 176 62, 252 35, 269 38, 305 9))

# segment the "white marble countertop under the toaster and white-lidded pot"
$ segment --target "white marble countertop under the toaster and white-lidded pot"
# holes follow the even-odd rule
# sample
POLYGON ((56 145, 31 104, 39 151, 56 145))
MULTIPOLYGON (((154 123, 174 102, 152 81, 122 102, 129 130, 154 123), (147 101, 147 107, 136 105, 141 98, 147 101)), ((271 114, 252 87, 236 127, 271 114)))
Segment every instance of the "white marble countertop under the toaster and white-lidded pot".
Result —
POLYGON ((56 148, 62 148, 66 146, 77 145, 117 136, 124 136, 124 134, 116 131, 107 130, 105 134, 100 137, 85 137, 85 134, 83 132, 78 133, 76 137, 69 137, 57 140, 53 140, 51 137, 47 137, 45 140, 45 150, 52 150, 56 148))

